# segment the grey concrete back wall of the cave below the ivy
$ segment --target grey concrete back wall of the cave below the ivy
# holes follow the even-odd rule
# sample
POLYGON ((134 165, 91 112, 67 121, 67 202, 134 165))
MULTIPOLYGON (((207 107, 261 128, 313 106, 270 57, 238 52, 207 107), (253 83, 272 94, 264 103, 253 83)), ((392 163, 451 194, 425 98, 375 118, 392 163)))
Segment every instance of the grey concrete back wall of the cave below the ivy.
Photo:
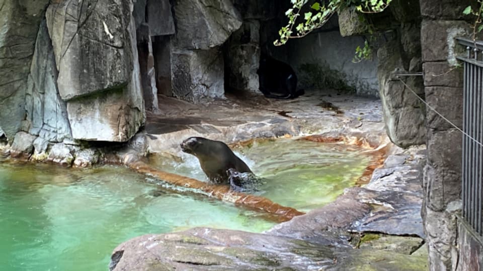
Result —
POLYGON ((364 46, 363 37, 342 37, 338 29, 319 31, 303 39, 290 40, 287 46, 289 63, 297 72, 301 87, 311 87, 318 80, 327 87, 352 88, 358 95, 379 97, 376 54, 372 60, 352 61, 357 46, 364 46), (310 68, 312 72, 307 70, 310 68), (320 77, 313 78, 313 75, 320 77))

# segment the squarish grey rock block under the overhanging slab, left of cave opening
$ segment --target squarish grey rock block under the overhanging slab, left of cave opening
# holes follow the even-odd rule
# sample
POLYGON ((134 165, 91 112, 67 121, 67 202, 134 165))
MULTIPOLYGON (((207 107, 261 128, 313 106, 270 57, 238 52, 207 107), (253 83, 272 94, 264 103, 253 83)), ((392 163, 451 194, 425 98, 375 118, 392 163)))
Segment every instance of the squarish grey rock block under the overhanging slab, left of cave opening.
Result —
POLYGON ((223 55, 219 48, 171 52, 173 95, 199 103, 224 97, 223 55))

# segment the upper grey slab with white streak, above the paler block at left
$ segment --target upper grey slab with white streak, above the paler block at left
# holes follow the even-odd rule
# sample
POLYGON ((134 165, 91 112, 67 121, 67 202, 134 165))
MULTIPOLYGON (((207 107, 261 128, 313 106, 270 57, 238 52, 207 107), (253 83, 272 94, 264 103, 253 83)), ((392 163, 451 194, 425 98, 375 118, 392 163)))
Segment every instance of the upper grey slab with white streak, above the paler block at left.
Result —
POLYGON ((130 1, 62 1, 47 9, 47 26, 64 100, 121 88, 132 71, 130 1))

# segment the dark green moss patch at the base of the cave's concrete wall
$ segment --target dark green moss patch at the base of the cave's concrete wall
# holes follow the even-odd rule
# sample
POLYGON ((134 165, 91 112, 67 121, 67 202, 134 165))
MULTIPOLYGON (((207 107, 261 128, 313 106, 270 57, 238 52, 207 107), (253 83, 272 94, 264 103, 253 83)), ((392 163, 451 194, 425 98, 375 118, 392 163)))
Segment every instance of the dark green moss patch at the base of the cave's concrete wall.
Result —
POLYGON ((347 84, 345 73, 332 70, 318 63, 300 65, 300 82, 315 88, 332 88, 341 92, 355 93, 356 88, 347 84))

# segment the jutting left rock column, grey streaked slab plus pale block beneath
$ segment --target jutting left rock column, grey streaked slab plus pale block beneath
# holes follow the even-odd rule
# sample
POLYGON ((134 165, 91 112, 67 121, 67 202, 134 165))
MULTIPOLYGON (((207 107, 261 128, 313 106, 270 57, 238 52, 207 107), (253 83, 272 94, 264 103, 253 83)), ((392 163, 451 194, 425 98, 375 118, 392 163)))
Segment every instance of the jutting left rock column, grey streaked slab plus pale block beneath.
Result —
POLYGON ((133 6, 129 0, 85 2, 47 9, 59 94, 67 101, 73 139, 124 142, 145 119, 133 6))

